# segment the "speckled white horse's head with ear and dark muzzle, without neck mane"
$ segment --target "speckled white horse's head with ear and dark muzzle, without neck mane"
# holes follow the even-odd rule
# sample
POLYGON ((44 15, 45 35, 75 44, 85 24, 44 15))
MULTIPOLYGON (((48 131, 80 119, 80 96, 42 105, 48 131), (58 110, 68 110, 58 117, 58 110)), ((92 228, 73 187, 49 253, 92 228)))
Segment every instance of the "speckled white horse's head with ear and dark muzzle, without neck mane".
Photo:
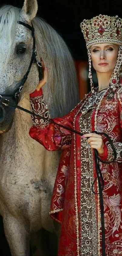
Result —
MULTIPOLYGON (((20 88, 33 52, 32 31, 18 21, 32 26, 37 10, 37 0, 25 0, 22 10, 10 5, 0 9, 0 95, 5 95, 4 98, 10 101, 15 101, 15 97, 7 95, 15 95, 20 88)), ((32 64, 19 101, 35 90, 38 81, 38 67, 32 64)), ((11 128, 14 111, 0 101, 0 133, 11 128)))

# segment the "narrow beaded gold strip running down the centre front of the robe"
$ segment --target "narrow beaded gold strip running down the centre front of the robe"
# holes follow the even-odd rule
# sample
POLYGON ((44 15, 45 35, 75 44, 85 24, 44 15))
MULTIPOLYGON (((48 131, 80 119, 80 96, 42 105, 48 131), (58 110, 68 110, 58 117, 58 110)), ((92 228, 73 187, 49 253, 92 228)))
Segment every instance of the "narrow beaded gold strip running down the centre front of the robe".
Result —
MULTIPOLYGON (((90 113, 82 115, 80 119, 81 131, 90 132, 90 113)), ((92 248, 92 212, 91 187, 89 175, 89 145, 87 139, 81 138, 81 255, 93 255, 92 248), (86 238, 86 239, 85 239, 86 238)))

